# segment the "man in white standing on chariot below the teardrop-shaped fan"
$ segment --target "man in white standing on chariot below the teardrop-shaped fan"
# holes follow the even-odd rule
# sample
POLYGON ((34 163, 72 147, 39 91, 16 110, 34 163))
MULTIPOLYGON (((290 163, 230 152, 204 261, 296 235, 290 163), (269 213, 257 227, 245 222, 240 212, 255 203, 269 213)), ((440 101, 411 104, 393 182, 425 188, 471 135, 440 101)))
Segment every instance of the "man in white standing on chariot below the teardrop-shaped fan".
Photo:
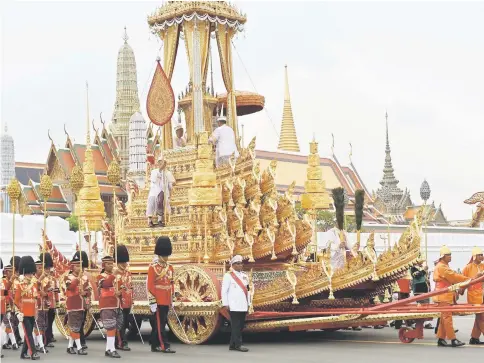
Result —
POLYGON ((166 168, 166 160, 163 156, 158 157, 156 167, 151 171, 150 192, 146 206, 148 225, 153 227, 156 219, 157 224, 164 225, 166 214, 170 213, 171 190, 176 184, 175 177, 166 168))

